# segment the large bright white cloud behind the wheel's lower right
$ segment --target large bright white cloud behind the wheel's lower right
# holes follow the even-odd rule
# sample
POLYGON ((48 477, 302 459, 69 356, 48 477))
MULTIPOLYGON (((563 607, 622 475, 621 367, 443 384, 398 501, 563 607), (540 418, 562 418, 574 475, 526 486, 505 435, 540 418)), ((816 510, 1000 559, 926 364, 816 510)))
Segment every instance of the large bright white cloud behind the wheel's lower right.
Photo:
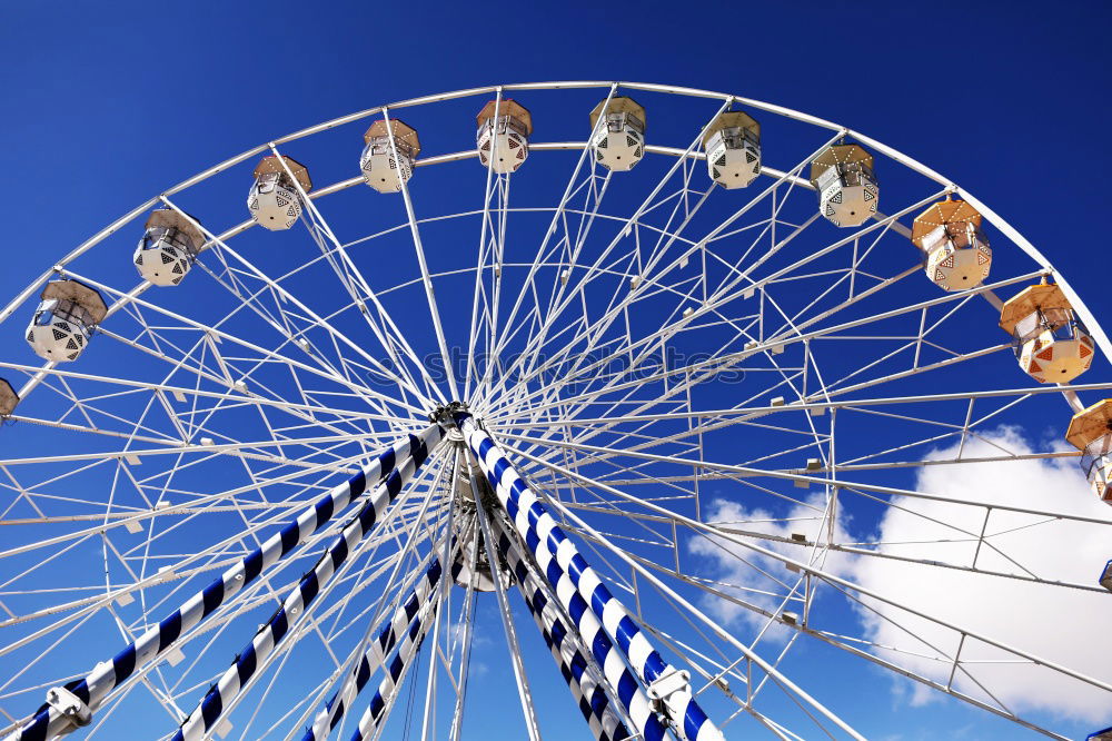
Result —
MULTIPOLYGON (((1031 445, 1012 428, 1002 428, 989 436, 987 442, 970 441, 964 456, 999 455, 999 445, 1014 453, 1031 452, 1031 445)), ((936 452, 934 457, 953 457, 955 449, 936 452)), ((1112 518, 1112 510, 1099 502, 1076 467, 1075 458, 1009 461, 982 464, 925 466, 920 471, 916 490, 961 500, 1010 504, 1020 507, 1051 510, 1063 513, 1112 518)), ((847 495, 852 496, 852 495, 847 495)), ((822 504, 820 498, 811 503, 822 504)), ((924 500, 903 500, 905 510, 887 508, 876 533, 856 532, 853 522, 840 522, 836 539, 878 540, 885 553, 929 559, 945 563, 969 565, 976 550, 976 534, 983 523, 983 510, 924 500), (949 525, 973 533, 973 542, 949 525), (853 532, 851 539, 846 531, 853 532), (964 541, 964 542, 963 542, 964 541)), ((795 507, 792 517, 811 516, 805 507, 795 507)), ((717 502, 712 517, 725 521, 766 520, 767 513, 746 511, 732 502, 717 502)), ((977 566, 1007 573, 1030 570, 1043 579, 1095 584, 1096 575, 1112 557, 1112 530, 1108 526, 1084 525, 1073 522, 1041 522, 1029 515, 994 512, 989 521, 990 543, 997 550, 982 546, 977 566)), ((814 532, 800 524, 763 523, 745 525, 749 530, 786 535, 806 532, 808 540, 814 532)), ((762 543, 767 546, 766 543, 762 543)), ((706 541, 694 541, 693 551, 715 556, 715 575, 741 587, 767 587, 766 577, 754 575, 753 569, 726 556, 722 550, 706 541)), ((773 550, 798 559, 802 549, 774 545, 773 550), (785 550, 791 549, 791 550, 785 550)), ((738 555, 745 555, 739 549, 738 555)), ((772 560, 751 562, 772 570, 781 576, 794 576, 778 570, 772 560)), ((876 557, 832 557, 826 570, 856 582, 862 586, 891 597, 909 607, 934 618, 983 633, 996 641, 1026 650, 1044 660, 1060 663, 1104 682, 1112 682, 1112 631, 1109 630, 1109 610, 1112 597, 1104 593, 1043 586, 1016 580, 985 576, 952 569, 909 564, 876 557)), ((833 597, 826 596, 825 600, 833 597)), ((761 606, 774 601, 768 596, 752 597, 761 606)), ((723 620, 743 621, 751 625, 764 622, 761 616, 722 601, 715 601, 715 611, 723 620)), ((824 602, 816 606, 816 618, 822 616, 824 602)), ((942 652, 953 652, 959 635, 910 613, 870 601, 876 613, 858 610, 862 633, 876 643, 903 652, 886 651, 884 659, 945 683, 950 666, 937 660, 937 652, 900 628, 925 639, 942 652), (898 625, 887 621, 895 621, 898 625), (925 655, 915 655, 925 654, 925 655)), ((709 606, 709 604, 708 604, 709 606)), ((983 643, 966 641, 962 659, 999 660, 1005 656, 983 643)), ((1006 656, 1012 659, 1012 656, 1006 656)), ((1062 676, 1044 666, 1016 663, 983 663, 970 665, 972 674, 1001 702, 1019 713, 1045 711, 1063 718, 1101 722, 1109 719, 1112 705, 1109 693, 1091 688, 1078 680, 1062 676)), ((895 676, 895 675, 893 675, 895 676)), ((894 691, 902 694, 906 684, 894 683, 894 691)), ((961 673, 955 686, 980 699, 987 700, 976 683, 961 673)), ((915 684, 910 695, 914 703, 936 696, 922 684, 915 684)))

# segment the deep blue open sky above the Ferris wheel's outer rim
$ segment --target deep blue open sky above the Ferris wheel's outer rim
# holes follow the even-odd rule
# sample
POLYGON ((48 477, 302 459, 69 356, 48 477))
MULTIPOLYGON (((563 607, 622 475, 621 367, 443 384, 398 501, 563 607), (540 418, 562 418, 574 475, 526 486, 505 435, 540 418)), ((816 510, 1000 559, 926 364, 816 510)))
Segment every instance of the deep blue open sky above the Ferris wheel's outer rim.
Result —
MULTIPOLYGON (((990 204, 1102 317, 1110 20, 1098 2, 9 4, 0 296, 136 204, 288 131, 445 90, 623 79, 736 92, 865 131, 990 204)), ((480 646, 484 665, 495 649, 480 646)), ((807 660, 843 665, 817 650, 807 660)), ((566 703, 554 679, 540 692, 566 703)), ((856 713, 873 715, 871 734, 1004 732, 956 703, 901 702, 874 673, 854 681, 876 698, 856 713)), ((580 738, 566 733, 554 738, 580 738)))

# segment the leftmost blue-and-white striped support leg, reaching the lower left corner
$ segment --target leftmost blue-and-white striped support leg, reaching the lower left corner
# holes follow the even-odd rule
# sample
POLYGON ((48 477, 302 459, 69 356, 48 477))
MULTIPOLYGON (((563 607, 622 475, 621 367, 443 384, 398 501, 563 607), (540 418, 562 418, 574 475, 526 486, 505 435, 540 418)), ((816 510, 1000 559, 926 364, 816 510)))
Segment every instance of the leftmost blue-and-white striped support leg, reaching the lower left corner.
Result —
MULTIPOLYGON (((376 486, 384 481, 387 488, 400 486, 397 463, 411 456, 419 466, 428 457, 429 451, 440 443, 444 435, 444 427, 433 425, 418 435, 408 435, 399 439, 350 481, 338 484, 301 512, 294 522, 271 535, 238 564, 189 597, 162 622, 117 653, 111 661, 97 664, 92 672, 83 679, 68 683, 66 689, 80 698, 90 710, 96 711, 112 690, 127 681, 137 670, 155 661, 173 645, 179 636, 216 612, 217 607, 229 597, 305 542, 351 502, 363 497, 368 486, 376 486)), ((46 741, 70 730, 72 723, 69 719, 52 708, 42 705, 27 723, 4 741, 46 741)))

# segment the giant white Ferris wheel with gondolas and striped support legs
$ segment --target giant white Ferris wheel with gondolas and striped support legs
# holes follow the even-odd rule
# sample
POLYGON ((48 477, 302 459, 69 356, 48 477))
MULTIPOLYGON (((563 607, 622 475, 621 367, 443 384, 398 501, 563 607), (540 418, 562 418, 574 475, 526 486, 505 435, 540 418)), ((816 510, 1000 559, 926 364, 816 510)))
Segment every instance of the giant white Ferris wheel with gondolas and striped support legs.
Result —
POLYGON ((1109 604, 1112 345, 840 125, 376 107, 138 206, 0 332, 3 739, 861 739, 866 679, 1032 738, 1070 711, 1015 678, 1112 707, 1106 656, 1012 624, 1109 604))

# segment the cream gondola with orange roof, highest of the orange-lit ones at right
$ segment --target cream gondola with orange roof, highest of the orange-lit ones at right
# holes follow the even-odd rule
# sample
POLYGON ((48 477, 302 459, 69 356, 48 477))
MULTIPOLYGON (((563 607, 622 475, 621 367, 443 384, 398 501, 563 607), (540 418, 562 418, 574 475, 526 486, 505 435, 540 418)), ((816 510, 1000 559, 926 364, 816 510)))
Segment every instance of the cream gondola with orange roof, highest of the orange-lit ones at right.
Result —
POLYGON ((943 290, 975 288, 989 277, 992 249, 981 231, 981 215, 949 196, 915 218, 911 240, 923 250, 926 277, 943 290))

